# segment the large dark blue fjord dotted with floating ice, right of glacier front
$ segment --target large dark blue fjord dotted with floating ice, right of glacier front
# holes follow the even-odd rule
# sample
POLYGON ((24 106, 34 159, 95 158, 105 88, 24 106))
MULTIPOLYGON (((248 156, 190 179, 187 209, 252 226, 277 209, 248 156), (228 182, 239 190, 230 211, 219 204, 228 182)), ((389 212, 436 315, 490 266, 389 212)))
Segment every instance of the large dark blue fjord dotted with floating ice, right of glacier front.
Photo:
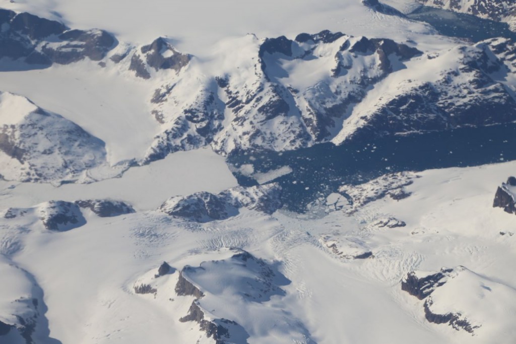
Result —
MULTIPOLYGON (((359 184, 397 171, 477 166, 516 160, 516 124, 462 128, 372 139, 341 146, 319 144, 295 151, 233 154, 236 167, 251 164, 255 172, 289 166, 291 174, 275 181, 283 187, 286 208, 303 212, 320 196, 343 184, 359 184)), ((516 171, 515 171, 516 173, 516 171)), ((241 185, 255 185, 235 174, 241 185)))

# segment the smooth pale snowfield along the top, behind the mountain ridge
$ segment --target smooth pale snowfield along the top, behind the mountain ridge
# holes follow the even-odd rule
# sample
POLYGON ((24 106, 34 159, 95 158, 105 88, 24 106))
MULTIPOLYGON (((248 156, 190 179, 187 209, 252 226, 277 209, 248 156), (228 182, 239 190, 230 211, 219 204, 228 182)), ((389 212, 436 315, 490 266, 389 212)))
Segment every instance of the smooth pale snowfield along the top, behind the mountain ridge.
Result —
POLYGON ((213 44, 222 39, 248 33, 259 37, 286 35, 294 38, 302 32, 317 33, 329 29, 355 36, 388 35, 394 39, 394 36, 409 31, 422 33, 429 30, 421 23, 376 13, 359 0, 327 0, 324 3, 266 0, 259 6, 249 6, 238 0, 18 0, 13 3, 1 0, 0 7, 62 20, 74 28, 106 29, 121 41, 135 44, 148 44, 159 36, 168 36, 180 51, 197 56, 209 55, 213 44), (375 25, 371 25, 373 22, 375 25))

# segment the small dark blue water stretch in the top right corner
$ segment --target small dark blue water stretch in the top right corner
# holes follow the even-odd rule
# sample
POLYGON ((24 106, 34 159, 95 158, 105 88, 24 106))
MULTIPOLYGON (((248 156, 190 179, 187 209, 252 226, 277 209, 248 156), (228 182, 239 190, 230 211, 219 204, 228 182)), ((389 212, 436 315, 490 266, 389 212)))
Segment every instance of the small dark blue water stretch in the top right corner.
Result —
POLYGON ((516 39, 516 33, 509 30, 507 23, 482 19, 471 14, 422 6, 408 14, 407 17, 412 20, 427 22, 443 36, 467 38, 473 42, 493 37, 516 39))

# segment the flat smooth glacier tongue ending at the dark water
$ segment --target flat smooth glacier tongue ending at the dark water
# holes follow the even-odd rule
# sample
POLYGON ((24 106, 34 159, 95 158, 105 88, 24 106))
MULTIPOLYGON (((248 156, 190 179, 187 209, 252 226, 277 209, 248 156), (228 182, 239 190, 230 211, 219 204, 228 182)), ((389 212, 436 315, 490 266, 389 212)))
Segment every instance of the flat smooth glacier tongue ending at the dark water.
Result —
POLYGON ((157 209, 173 195, 200 191, 217 193, 236 185, 224 159, 211 149, 200 149, 170 154, 150 165, 133 167, 121 178, 91 184, 54 187, 50 184, 0 181, 0 208, 27 208, 51 199, 106 198, 127 201, 136 210, 151 210, 157 209))

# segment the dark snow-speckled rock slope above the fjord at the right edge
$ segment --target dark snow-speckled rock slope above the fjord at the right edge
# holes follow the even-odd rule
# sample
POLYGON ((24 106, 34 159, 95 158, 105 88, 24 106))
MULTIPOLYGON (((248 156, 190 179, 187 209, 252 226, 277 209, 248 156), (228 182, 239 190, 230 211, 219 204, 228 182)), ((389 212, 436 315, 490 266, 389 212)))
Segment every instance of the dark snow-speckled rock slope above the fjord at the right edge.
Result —
MULTIPOLYGON (((369 50, 367 45, 364 43, 353 48, 369 50)), ((372 135, 479 127, 516 120, 516 101, 512 93, 493 76, 495 72, 505 73, 504 64, 510 62, 507 54, 514 49, 508 40, 504 43, 489 40, 473 47, 457 48, 459 68, 436 71, 439 77, 434 82, 407 81, 399 88, 398 95, 364 113, 361 118, 366 124, 352 133, 348 140, 365 140, 372 135)), ((449 63, 448 60, 446 62, 449 63)), ((389 68, 387 60, 385 67, 389 68)))

